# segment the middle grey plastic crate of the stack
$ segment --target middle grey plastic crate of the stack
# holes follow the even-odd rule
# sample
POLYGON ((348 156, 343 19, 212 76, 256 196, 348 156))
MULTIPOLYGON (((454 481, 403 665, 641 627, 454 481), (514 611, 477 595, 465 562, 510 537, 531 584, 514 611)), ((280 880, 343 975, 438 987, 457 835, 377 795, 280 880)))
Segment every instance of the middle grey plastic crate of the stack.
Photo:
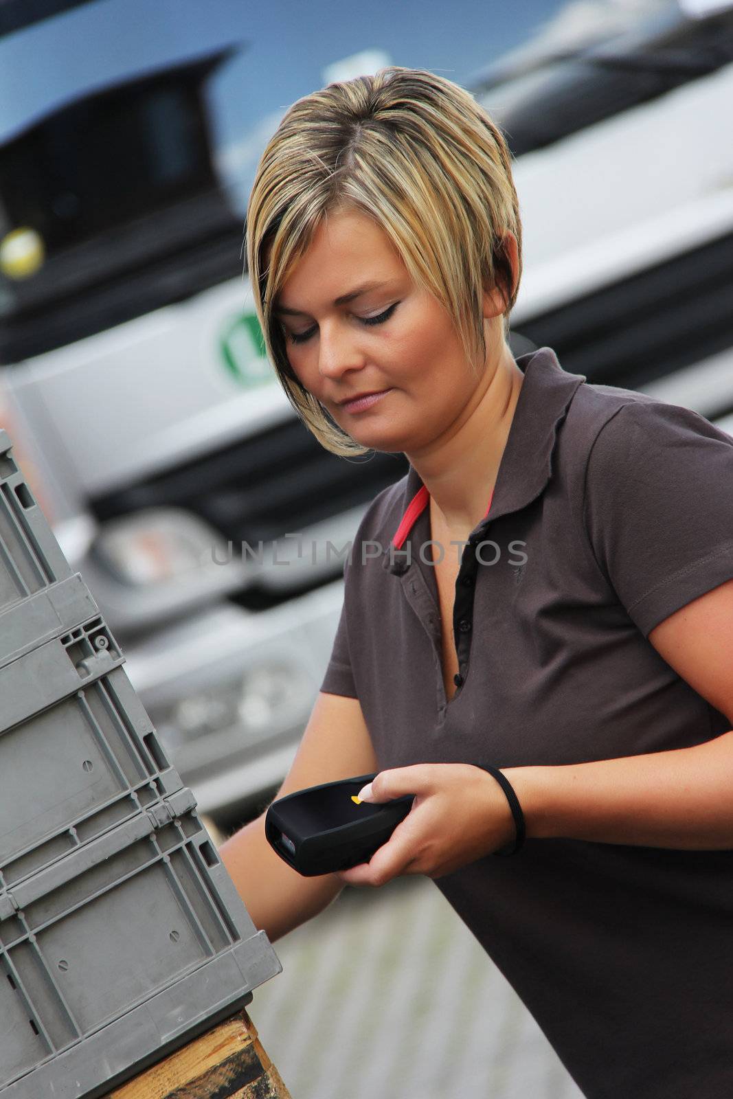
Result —
POLYGON ((0 888, 182 787, 124 669, 79 689, 68 651, 59 639, 0 669, 0 726, 3 711, 21 719, 0 731, 0 888), (33 676, 44 671, 34 690, 33 676), (64 693, 46 704, 53 687, 64 693))

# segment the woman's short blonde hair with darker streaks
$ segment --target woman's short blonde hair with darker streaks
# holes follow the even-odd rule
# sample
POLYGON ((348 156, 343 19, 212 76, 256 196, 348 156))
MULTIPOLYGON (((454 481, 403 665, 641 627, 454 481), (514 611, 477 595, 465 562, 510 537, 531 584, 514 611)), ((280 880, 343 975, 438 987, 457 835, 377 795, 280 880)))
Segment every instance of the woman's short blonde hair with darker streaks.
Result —
POLYGON ((475 363, 486 355, 482 293, 501 287, 509 313, 522 270, 511 154, 464 88, 390 65, 297 100, 265 148, 247 207, 246 254, 265 348, 291 404, 333 454, 368 453, 301 386, 287 355, 277 295, 329 213, 355 210, 387 234, 419 288, 454 320, 475 363), (519 271, 503 247, 517 237, 519 271))

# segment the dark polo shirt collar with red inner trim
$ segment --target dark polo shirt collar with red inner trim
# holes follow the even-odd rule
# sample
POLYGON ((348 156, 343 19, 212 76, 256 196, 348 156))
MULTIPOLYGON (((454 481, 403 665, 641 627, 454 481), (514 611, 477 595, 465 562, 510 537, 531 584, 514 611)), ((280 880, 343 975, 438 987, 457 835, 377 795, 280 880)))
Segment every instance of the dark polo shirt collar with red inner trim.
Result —
MULTIPOLYGON (((501 515, 519 511, 532 503, 547 485, 557 429, 564 420, 576 390, 585 375, 568 374, 562 368, 551 347, 540 347, 520 355, 517 365, 524 375, 507 445, 504 446, 493 493, 487 500, 487 512, 471 534, 501 515)), ((401 519, 392 532, 390 545, 384 551, 384 566, 402 573, 406 564, 396 551, 402 550, 418 518, 427 507, 430 493, 420 475, 410 465, 402 496, 401 519)))

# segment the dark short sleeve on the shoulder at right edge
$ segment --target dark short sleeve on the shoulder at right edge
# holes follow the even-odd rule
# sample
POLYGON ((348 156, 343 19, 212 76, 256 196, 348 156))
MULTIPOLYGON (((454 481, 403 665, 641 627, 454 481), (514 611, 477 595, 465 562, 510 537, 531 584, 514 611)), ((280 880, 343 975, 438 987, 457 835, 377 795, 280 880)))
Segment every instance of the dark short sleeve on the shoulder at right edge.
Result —
POLYGON ((733 439, 689 409, 623 404, 589 453, 584 520, 596 560, 646 637, 733 578, 733 439))

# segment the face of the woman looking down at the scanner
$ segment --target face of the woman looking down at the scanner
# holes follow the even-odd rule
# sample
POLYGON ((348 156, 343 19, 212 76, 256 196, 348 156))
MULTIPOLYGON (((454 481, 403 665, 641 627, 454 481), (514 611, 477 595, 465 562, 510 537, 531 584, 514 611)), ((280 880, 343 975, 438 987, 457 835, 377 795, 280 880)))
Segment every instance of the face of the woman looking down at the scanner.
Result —
MULTIPOLYGON (((419 454, 481 386, 449 314, 414 287, 384 231, 362 213, 333 213, 319 227, 276 313, 299 381, 364 446, 419 454), (362 411, 342 403, 379 391, 362 411)), ((490 356, 501 318, 485 330, 490 356)))

